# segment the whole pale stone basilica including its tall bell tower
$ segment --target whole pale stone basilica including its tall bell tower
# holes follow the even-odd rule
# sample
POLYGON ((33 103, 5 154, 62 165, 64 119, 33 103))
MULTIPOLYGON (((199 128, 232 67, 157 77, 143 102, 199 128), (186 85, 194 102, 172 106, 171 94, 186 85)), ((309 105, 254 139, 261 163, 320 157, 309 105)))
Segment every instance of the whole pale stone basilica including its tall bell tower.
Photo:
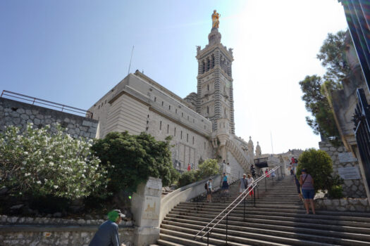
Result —
POLYGON ((187 170, 188 164, 197 169, 207 158, 230 162, 231 179, 249 170, 252 140, 235 136, 233 49, 221 44, 218 25, 208 39, 203 49, 197 46, 197 93, 180 98, 136 71, 89 109, 99 120, 97 138, 111 131, 145 131, 157 140, 172 136, 173 165, 179 171, 187 170))

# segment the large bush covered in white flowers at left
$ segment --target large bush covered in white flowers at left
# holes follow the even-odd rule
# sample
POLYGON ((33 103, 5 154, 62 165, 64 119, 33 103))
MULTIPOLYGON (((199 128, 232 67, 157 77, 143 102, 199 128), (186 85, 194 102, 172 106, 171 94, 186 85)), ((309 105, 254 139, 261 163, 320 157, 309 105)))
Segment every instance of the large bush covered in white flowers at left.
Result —
POLYGON ((72 138, 59 124, 0 134, 0 188, 11 195, 53 195, 76 199, 106 188, 106 169, 92 155, 92 140, 72 138), (55 129, 54 129, 55 128, 55 129), (53 132, 51 132, 51 130, 53 132))

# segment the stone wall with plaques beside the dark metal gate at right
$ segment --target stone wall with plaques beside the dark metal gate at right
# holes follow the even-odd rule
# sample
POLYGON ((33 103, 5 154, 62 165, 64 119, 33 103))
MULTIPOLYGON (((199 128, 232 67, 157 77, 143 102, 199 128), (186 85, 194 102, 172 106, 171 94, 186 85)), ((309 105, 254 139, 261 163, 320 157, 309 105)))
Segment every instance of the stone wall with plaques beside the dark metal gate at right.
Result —
MULTIPOLYGON (((344 146, 334 147, 328 141, 319 143, 320 150, 325 151, 333 160, 333 174, 340 174, 340 171, 345 171, 343 168, 357 168, 359 173, 359 163, 353 157, 352 153, 345 150, 344 146)), ((342 175, 343 177, 343 175, 342 175)), ((343 195, 346 198, 366 198, 366 190, 359 174, 358 179, 345 179, 343 184, 343 195)))

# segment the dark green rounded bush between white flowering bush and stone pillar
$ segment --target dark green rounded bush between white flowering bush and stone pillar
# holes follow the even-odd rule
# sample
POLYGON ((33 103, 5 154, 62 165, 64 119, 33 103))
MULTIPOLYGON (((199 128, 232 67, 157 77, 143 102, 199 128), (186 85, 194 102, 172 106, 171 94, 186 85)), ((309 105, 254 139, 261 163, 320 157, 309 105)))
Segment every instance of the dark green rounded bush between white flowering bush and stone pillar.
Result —
POLYGON ((149 176, 161 178, 164 186, 176 178, 171 164, 169 141, 156 141, 149 134, 130 135, 111 132, 92 146, 95 155, 109 171, 108 190, 135 192, 139 183, 149 176))

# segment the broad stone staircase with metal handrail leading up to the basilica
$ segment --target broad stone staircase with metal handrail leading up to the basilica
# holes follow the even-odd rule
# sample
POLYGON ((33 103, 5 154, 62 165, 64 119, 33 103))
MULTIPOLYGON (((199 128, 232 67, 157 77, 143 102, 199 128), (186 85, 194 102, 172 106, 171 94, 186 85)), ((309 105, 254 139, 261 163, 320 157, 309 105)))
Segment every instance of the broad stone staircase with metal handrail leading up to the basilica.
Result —
MULTIPOLYGON (((207 245, 206 236, 195 235, 238 196, 238 185, 228 194, 214 193, 211 203, 199 198, 177 205, 162 221, 156 245, 207 245)), ((275 178, 274 185, 269 178, 266 187, 261 181, 255 207, 247 198, 245 219, 243 202, 229 214, 228 245, 370 245, 369 213, 306 214, 292 176, 275 178)), ((209 245, 226 245, 226 220, 209 235, 209 245)))

